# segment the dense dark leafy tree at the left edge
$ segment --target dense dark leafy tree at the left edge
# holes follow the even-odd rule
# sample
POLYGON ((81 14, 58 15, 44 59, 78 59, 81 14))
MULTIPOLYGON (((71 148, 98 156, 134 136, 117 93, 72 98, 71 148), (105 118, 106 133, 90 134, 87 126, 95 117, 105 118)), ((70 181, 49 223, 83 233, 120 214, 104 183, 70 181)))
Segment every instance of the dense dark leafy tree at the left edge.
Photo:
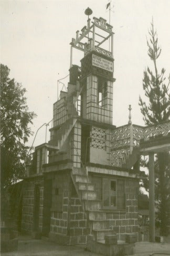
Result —
POLYGON ((1 190, 5 196, 9 185, 25 173, 31 135, 29 124, 36 116, 28 111, 26 89, 9 78, 9 68, 1 64, 1 190))

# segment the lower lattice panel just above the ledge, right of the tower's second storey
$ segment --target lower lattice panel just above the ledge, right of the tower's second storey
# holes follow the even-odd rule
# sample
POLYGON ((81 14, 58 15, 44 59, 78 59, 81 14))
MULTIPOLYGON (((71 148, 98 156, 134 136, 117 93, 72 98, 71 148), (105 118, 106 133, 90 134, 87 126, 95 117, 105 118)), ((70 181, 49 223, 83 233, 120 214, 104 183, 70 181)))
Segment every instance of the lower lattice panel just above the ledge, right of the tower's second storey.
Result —
POLYGON ((111 161, 110 164, 112 166, 121 167, 127 160, 130 155, 130 149, 121 149, 114 150, 111 152, 111 161))

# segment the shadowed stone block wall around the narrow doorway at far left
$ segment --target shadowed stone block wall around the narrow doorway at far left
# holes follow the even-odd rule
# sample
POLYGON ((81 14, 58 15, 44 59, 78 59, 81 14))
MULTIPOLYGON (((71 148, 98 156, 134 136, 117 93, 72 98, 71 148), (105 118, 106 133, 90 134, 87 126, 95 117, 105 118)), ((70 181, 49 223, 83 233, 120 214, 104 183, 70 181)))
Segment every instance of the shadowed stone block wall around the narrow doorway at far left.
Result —
POLYGON ((34 207, 35 207, 35 185, 39 186, 39 232, 42 231, 43 191, 42 179, 24 181, 23 185, 23 213, 22 231, 30 233, 34 231, 34 207))

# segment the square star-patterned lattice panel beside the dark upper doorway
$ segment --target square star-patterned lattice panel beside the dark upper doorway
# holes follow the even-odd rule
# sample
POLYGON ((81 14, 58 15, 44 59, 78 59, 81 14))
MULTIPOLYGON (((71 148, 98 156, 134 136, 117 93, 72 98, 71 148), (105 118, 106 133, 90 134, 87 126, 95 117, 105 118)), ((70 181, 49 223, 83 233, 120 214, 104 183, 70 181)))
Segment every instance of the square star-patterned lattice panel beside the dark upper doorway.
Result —
POLYGON ((93 149, 102 149, 105 150, 106 141, 106 130, 101 129, 99 127, 92 126, 92 131, 90 132, 91 143, 90 147, 93 149))

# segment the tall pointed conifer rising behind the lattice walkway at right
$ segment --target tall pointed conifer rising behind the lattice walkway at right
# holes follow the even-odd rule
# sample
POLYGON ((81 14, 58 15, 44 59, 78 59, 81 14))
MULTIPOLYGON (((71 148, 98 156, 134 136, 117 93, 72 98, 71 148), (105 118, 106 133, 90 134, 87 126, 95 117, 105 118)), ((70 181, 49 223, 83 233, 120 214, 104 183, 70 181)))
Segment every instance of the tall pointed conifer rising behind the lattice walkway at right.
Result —
MULTIPOLYGON (((157 33, 151 23, 150 40, 147 40, 148 56, 153 62, 153 71, 147 67, 144 71, 143 89, 147 97, 147 103, 141 97, 139 105, 143 114, 143 120, 146 125, 158 124, 169 120, 170 116, 170 94, 168 86, 170 75, 167 83, 165 69, 158 72, 157 58, 161 54, 161 47, 158 46, 157 33)), ((169 152, 162 152, 156 155, 155 163, 155 199, 158 208, 158 217, 161 225, 161 235, 167 234, 167 225, 169 224, 169 190, 170 190, 170 168, 169 152)), ((148 189, 147 181, 144 184, 148 189)))

